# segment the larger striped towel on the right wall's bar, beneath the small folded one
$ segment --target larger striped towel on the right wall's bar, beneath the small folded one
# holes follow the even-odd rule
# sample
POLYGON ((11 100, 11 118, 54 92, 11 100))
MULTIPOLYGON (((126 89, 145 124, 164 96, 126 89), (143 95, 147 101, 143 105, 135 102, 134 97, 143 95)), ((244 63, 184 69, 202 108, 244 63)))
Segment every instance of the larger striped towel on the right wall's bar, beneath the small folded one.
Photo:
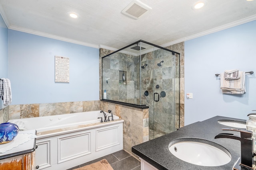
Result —
POLYGON ((245 72, 239 71, 240 78, 225 79, 224 73, 220 73, 220 88, 222 94, 244 94, 245 90, 245 72))

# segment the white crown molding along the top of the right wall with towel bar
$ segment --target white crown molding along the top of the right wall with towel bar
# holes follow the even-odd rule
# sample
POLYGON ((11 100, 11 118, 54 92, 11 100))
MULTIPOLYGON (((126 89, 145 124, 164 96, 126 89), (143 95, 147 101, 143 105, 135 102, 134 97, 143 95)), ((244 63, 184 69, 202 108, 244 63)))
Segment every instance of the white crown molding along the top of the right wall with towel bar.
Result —
POLYGON ((242 20, 238 20, 238 21, 234 21, 234 22, 231 22, 231 23, 228 23, 226 25, 222 25, 220 27, 216 27, 216 28, 213 28, 213 29, 209 29, 207 31, 203 31, 201 33, 197 33, 197 34, 194 34, 194 35, 191 35, 191 36, 188 36, 188 37, 184 37, 184 38, 181 38, 181 39, 177 39, 175 41, 171 41, 169 43, 165 43, 163 45, 161 45, 161 47, 168 47, 170 45, 174 45, 176 43, 180 43, 180 42, 183 42, 183 41, 188 41, 190 39, 194 39, 194 38, 198 38, 198 37, 202 37, 204 35, 208 35, 210 33, 215 33, 215 32, 218 32, 218 31, 222 31, 224 29, 228 29, 228 28, 231 28, 231 27, 235 27, 237 25, 241 25, 243 23, 247 23, 247 22, 250 22, 250 21, 254 21, 256 20, 256 15, 253 15, 253 16, 250 16, 250 17, 247 17, 247 18, 244 18, 242 20))

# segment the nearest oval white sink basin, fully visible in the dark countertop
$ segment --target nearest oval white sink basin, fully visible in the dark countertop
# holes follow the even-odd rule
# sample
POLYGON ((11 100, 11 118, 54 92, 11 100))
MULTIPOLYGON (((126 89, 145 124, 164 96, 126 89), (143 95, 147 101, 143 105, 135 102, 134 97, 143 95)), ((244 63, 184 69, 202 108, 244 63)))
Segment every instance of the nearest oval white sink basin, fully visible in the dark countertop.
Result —
POLYGON ((200 166, 221 166, 231 160, 227 149, 204 139, 175 139, 169 144, 169 150, 177 158, 200 166))

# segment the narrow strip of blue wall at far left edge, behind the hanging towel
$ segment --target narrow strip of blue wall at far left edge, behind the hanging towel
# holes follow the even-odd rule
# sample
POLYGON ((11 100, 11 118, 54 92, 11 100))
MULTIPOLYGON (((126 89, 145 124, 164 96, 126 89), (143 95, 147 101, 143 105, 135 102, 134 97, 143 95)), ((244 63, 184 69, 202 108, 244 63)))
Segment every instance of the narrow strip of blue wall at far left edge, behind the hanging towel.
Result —
MULTIPOLYGON (((8 29, 0 15, 0 78, 8 78, 8 29)), ((2 109, 2 100, 0 100, 2 109)))

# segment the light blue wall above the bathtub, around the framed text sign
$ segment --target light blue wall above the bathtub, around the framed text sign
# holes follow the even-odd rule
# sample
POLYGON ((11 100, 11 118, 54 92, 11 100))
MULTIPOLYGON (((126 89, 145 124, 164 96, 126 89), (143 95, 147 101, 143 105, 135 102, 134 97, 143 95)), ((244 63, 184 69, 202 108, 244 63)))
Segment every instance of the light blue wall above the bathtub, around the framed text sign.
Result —
POLYGON ((99 100, 99 50, 8 30, 13 104, 99 100), (70 82, 55 82, 54 56, 69 57, 70 82))

